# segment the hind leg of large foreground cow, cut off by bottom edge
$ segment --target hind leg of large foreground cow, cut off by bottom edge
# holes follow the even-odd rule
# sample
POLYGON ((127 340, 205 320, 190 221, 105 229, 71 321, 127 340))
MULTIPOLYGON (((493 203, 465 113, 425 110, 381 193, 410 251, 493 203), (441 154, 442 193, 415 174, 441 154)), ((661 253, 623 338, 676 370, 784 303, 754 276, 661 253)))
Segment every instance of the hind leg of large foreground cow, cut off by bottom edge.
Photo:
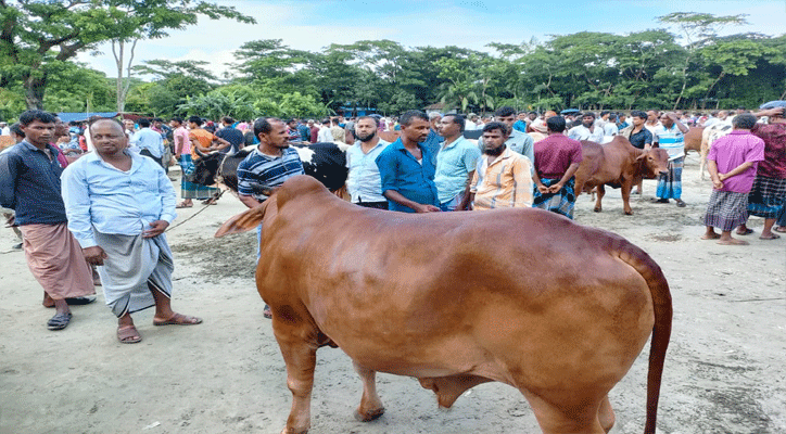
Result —
POLYGON ((530 393, 524 396, 544 434, 606 434, 598 420, 597 405, 563 408, 530 393))

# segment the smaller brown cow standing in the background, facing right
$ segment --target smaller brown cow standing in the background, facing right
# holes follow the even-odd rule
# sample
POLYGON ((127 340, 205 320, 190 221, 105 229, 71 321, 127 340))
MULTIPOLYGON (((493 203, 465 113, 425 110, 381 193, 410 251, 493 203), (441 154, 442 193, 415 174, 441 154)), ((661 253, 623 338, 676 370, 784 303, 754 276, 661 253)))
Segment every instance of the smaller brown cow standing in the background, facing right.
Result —
POLYGON ((659 148, 649 151, 639 150, 622 136, 605 144, 582 141, 582 162, 575 171, 575 195, 597 187, 598 197, 595 212, 600 213, 600 201, 606 194, 604 186, 621 188, 623 210, 633 215, 631 209, 631 188, 642 178, 651 179, 667 173, 669 155, 659 148))

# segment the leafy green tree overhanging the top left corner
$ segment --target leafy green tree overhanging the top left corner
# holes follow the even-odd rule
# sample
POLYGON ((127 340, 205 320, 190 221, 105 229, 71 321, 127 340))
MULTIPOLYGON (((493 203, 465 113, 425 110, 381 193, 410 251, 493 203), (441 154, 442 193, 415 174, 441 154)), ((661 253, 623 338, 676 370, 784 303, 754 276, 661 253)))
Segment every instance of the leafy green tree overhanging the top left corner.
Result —
POLYGON ((52 67, 111 40, 166 36, 198 15, 253 23, 232 7, 198 0, 0 0, 0 87, 18 79, 41 108, 52 67))

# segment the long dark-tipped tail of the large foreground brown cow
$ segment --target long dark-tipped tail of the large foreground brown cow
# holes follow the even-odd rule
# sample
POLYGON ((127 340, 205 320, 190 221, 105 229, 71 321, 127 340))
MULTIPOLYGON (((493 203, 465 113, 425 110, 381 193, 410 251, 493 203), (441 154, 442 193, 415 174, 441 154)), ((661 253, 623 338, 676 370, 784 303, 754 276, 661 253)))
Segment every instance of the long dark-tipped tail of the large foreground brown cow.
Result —
POLYGON ((663 375, 663 361, 665 350, 671 337, 672 305, 669 283, 658 264, 644 251, 629 243, 624 239, 617 239, 613 243, 614 252, 619 258, 633 267, 642 275, 649 286, 655 311, 655 326, 649 346, 649 372, 647 373, 647 422, 645 434, 655 434, 655 422, 658 414, 658 399, 660 398, 660 382, 663 375))

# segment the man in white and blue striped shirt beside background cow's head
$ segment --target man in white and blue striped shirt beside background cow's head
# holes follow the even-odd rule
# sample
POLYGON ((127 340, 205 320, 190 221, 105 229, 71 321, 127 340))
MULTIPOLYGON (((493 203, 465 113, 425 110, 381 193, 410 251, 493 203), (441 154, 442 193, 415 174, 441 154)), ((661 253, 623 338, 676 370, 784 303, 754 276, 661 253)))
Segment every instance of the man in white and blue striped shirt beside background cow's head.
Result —
POLYGON ((660 117, 660 126, 655 129, 652 142, 669 154, 669 171, 658 179, 658 199, 656 203, 669 203, 674 199, 676 206, 684 207, 682 199, 682 167, 685 161, 685 137, 688 128, 674 113, 664 113, 660 117))

